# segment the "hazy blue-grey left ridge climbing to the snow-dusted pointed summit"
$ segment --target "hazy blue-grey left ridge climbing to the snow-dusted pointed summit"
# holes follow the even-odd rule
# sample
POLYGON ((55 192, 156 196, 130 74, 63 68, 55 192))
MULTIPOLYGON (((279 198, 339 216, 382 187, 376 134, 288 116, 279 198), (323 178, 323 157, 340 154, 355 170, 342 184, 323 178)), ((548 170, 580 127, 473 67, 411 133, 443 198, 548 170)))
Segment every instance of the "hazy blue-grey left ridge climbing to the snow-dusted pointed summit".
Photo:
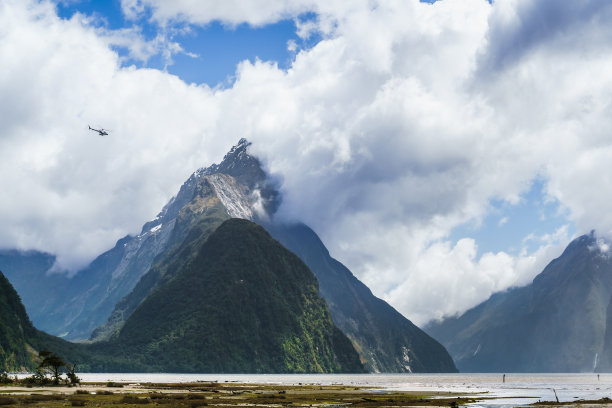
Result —
MULTIPOLYGON (((230 216, 253 218, 255 209, 249 194, 256 181, 265 175, 256 160, 240 160, 246 154, 246 143, 243 140, 235 146, 221 164, 194 173, 158 216, 142 227, 139 235, 120 239, 114 248, 98 256, 73 278, 44 273, 51 266, 48 264, 53 263, 51 256, 36 252, 0 253, 0 267, 21 294, 36 327, 67 340, 88 338, 156 258, 181 243, 200 217, 217 226, 230 216), (201 177, 207 180, 206 191, 199 190, 201 177), (200 197, 203 194, 209 194, 214 204, 204 202, 205 198, 200 197), (200 201, 195 199, 196 195, 200 201), (190 208, 198 205, 206 211, 190 212, 190 208), (35 264, 34 269, 23 267, 24 264, 35 264)), ((258 184, 257 188, 258 208, 272 211, 277 205, 275 190, 267 184, 258 184)))

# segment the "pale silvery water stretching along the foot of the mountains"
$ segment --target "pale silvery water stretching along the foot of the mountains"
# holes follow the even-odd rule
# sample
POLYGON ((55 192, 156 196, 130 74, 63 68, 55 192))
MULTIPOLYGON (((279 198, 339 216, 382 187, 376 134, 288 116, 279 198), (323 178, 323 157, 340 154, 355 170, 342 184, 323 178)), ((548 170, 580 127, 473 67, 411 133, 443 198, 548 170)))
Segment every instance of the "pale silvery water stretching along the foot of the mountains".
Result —
POLYGON ((474 393, 498 399, 476 407, 509 407, 538 400, 612 398, 612 374, 79 374, 83 381, 243 382, 268 384, 344 384, 399 391, 474 393))

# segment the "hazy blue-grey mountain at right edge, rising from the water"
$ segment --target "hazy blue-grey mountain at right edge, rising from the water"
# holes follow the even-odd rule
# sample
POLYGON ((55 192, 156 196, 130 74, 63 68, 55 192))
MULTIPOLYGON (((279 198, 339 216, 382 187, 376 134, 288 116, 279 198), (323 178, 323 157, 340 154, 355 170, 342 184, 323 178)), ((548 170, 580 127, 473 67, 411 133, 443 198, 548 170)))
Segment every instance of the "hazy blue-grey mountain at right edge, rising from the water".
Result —
POLYGON ((607 245, 584 235, 530 285, 426 330, 461 371, 592 372, 602 356, 611 296, 607 245))

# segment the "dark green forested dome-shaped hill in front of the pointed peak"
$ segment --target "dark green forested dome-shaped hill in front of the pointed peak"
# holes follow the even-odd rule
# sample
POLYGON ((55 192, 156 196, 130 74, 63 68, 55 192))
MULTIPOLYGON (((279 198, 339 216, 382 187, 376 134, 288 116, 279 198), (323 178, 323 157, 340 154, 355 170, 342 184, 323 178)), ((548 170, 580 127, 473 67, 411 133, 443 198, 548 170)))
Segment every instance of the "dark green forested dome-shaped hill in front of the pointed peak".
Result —
POLYGON ((111 357, 92 369, 363 372, 312 272, 263 228, 231 219, 191 250, 116 338, 92 345, 111 357))

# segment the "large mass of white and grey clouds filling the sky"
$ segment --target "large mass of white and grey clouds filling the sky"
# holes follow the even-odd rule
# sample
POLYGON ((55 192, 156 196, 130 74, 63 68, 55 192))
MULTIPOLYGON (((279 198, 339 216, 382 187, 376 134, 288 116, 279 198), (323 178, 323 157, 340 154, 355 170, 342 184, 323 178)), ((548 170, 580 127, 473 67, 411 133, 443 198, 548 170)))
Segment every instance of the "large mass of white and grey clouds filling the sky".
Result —
POLYGON ((122 6, 160 30, 296 18, 322 39, 287 70, 244 61, 231 87, 211 89, 122 66, 113 33, 62 20, 52 3, 0 4, 0 246, 78 267, 240 137, 282 181, 278 216, 312 226, 416 323, 525 284, 560 254, 567 228, 518 255, 448 239, 536 178, 579 232, 612 232, 612 5, 217 3, 122 6))

